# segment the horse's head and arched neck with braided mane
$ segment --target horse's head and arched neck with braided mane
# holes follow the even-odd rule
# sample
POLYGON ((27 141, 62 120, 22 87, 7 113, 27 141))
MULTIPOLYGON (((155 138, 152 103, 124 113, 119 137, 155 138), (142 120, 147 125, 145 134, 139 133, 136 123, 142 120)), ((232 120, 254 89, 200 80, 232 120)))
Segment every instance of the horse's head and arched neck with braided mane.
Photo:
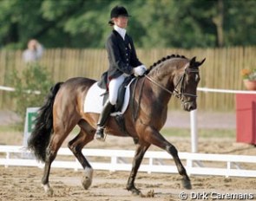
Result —
POLYGON ((195 57, 189 60, 181 55, 168 55, 155 62, 148 69, 146 77, 164 92, 167 101, 174 94, 181 100, 184 110, 191 111, 197 107, 196 88, 200 81, 199 67, 205 60, 196 62, 195 57))

